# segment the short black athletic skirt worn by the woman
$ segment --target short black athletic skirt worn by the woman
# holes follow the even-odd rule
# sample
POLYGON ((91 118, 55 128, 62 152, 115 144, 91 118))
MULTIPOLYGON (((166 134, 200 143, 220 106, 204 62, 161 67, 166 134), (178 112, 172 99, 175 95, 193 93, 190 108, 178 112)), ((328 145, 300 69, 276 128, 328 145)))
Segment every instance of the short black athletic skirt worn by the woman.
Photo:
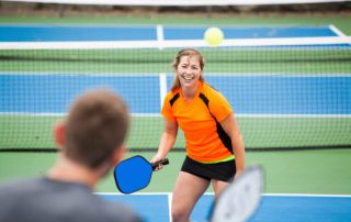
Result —
POLYGON ((182 171, 211 180, 230 181, 236 173, 235 159, 216 164, 203 164, 189 156, 184 159, 182 171))

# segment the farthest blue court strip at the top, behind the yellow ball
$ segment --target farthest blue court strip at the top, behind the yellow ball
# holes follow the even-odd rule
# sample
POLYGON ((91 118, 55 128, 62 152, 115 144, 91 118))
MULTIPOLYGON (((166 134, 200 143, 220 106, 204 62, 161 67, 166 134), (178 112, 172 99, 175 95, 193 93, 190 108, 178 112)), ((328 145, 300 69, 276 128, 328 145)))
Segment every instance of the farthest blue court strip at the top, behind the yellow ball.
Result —
MULTIPOLYGON (((329 25, 322 26, 220 26, 226 38, 330 37, 338 36, 329 25)), ((151 41, 203 40, 207 26, 156 25, 0 25, 0 42, 66 41, 151 41)))

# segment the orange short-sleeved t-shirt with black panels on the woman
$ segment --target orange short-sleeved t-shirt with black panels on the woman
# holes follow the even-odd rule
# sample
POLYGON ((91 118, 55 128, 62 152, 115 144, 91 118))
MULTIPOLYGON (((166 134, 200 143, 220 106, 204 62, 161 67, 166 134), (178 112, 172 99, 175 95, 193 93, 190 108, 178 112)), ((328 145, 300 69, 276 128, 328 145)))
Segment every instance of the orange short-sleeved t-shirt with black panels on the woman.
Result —
POLYGON ((184 100, 180 88, 174 92, 170 91, 165 98, 161 111, 165 119, 178 122, 184 132, 188 156, 202 163, 220 162, 233 155, 220 141, 216 121, 210 111, 218 122, 233 113, 228 101, 218 91, 201 81, 191 101, 184 100), (208 99, 208 108, 200 95, 208 99))

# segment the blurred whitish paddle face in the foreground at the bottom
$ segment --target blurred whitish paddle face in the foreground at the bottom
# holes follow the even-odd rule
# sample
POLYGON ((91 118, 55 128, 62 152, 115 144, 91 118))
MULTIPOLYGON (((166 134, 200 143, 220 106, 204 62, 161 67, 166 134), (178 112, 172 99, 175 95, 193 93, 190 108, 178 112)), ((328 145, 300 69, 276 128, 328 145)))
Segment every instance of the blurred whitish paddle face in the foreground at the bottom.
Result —
POLYGON ((263 170, 260 166, 248 167, 219 196, 212 222, 246 221, 257 210, 263 192, 263 170))

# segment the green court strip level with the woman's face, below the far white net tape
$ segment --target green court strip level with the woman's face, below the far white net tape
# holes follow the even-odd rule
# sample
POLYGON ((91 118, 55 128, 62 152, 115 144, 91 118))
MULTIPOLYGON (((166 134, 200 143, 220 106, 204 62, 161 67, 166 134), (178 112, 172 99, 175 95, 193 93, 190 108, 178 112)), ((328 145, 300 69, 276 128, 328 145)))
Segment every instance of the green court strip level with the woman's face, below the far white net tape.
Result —
MULTIPOLYGON (((296 48, 203 49, 206 73, 220 74, 348 74, 350 53, 296 48), (274 65, 272 65, 274 64, 274 65)), ((0 51, 1 71, 47 74, 172 73, 177 49, 21 49, 0 51), (53 53, 54 52, 54 53, 53 53)))

